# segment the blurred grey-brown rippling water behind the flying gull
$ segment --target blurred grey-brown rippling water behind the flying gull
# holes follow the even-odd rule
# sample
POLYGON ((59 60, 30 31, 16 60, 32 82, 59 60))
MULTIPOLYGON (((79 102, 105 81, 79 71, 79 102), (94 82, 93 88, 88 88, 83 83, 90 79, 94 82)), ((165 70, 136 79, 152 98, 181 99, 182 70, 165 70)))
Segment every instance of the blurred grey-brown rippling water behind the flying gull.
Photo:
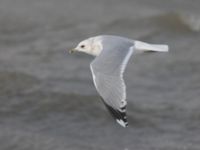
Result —
POLYGON ((200 1, 1 0, 1 150, 199 150, 200 1), (129 127, 92 82, 92 56, 67 49, 113 34, 169 44, 132 57, 129 127))

